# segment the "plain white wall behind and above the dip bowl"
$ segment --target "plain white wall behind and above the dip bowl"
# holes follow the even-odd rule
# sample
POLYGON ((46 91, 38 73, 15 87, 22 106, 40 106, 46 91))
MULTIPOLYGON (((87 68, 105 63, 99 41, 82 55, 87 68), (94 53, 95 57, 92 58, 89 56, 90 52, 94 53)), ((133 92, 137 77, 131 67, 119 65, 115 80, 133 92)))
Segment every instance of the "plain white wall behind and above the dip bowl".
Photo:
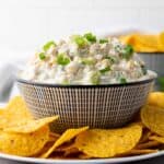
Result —
POLYGON ((72 33, 164 30, 164 0, 0 0, 0 60, 72 33))

